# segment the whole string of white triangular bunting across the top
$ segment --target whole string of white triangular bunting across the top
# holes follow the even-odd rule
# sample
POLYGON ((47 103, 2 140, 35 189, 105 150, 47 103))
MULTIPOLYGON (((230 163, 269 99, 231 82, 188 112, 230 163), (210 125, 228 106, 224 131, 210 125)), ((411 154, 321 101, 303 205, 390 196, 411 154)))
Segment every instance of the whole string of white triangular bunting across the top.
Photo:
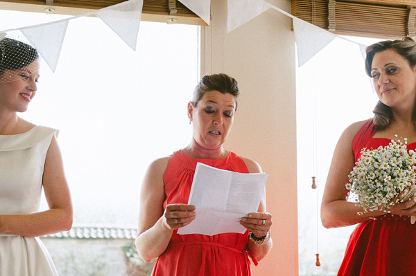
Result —
MULTIPOLYGON (((209 9, 211 6, 211 0, 180 1, 184 4, 184 6, 187 6, 187 8, 195 12, 196 15, 209 24, 209 9)), ((119 35, 119 37, 121 37, 121 39, 123 39, 123 41, 130 46, 130 48, 135 50, 142 8, 143 0, 128 0, 114 6, 96 10, 94 12, 88 12, 83 15, 11 31, 20 31, 23 33, 26 39, 28 39, 28 42, 37 48, 46 64, 48 64, 51 70, 55 72, 69 20, 96 14, 114 31, 114 33, 119 35)), ((251 19, 254 19, 254 17, 257 17, 269 8, 273 8, 293 19, 293 28, 295 31, 299 62, 298 66, 302 66, 308 62, 311 57, 331 43, 336 37, 345 39, 344 37, 340 37, 328 32, 327 30, 319 28, 318 26, 309 24, 302 19, 298 19, 290 13, 272 6, 272 4, 264 0, 228 0, 227 33, 245 24, 251 19)), ((4 32, 8 33, 10 30, 4 30, 0 33, 4 32)), ((357 44, 356 42, 349 42, 357 44)), ((362 44, 358 45, 363 57, 365 57, 365 46, 362 44)))

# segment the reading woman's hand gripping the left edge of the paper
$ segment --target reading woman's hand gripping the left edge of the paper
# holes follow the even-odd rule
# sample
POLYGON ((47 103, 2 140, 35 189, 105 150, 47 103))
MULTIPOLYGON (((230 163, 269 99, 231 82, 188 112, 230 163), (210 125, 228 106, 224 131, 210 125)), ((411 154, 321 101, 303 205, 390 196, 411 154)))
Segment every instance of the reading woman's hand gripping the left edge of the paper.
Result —
POLYGON ((175 230, 191 223, 196 217, 195 206, 188 204, 168 204, 162 216, 163 225, 175 230))

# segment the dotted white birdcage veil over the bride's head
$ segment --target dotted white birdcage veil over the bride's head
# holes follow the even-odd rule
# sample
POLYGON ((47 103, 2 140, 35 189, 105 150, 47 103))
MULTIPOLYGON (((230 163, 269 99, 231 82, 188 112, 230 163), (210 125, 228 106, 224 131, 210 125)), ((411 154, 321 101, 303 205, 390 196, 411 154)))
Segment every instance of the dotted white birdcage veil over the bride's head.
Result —
POLYGON ((39 69, 37 50, 23 40, 0 33, 0 82, 12 82, 21 77, 21 71, 31 75, 39 69))

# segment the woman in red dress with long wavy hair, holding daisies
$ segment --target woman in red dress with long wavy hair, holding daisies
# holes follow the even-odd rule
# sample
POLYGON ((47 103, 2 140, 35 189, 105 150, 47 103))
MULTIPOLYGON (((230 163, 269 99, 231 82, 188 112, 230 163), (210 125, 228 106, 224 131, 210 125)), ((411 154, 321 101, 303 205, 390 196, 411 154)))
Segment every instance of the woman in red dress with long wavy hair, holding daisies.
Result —
POLYGON ((365 70, 379 102, 374 118, 347 127, 336 145, 322 199, 322 224, 335 228, 358 223, 338 275, 416 275, 416 224, 410 223, 415 196, 388 212, 363 212, 346 200, 345 184, 361 149, 385 147, 400 138, 407 138, 408 150, 416 147, 416 43, 410 37, 384 41, 368 46, 366 53, 365 70))

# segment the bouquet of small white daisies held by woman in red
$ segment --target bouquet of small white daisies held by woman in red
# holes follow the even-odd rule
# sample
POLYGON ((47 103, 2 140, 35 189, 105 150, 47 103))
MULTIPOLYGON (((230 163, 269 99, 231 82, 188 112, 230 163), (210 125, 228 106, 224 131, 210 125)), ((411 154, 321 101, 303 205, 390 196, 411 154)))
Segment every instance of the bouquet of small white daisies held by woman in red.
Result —
MULTIPOLYGON (((397 137, 397 135, 395 136, 397 137)), ((356 202, 365 212, 388 209, 404 202, 416 193, 416 154, 407 150, 407 139, 391 140, 377 149, 362 149, 361 158, 349 173, 347 200, 356 202)), ((416 217, 411 216, 411 223, 416 217)))

